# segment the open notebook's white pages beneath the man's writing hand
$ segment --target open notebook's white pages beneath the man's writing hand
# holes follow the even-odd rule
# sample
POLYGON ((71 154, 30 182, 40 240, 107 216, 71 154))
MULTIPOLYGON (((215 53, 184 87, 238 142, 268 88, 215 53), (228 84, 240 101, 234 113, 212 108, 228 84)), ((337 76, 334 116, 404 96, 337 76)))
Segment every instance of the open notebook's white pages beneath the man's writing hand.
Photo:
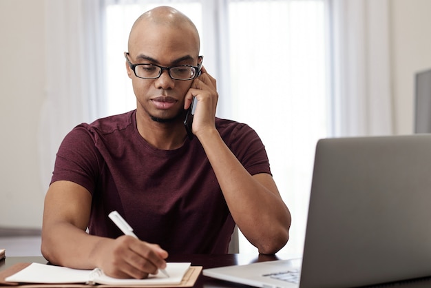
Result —
POLYGON ((67 284, 86 283, 89 285, 103 284, 115 286, 154 286, 178 285, 182 281, 191 263, 167 263, 169 277, 158 273, 146 279, 119 279, 103 274, 101 269, 81 270, 40 263, 32 263, 21 271, 6 278, 7 282, 67 284))

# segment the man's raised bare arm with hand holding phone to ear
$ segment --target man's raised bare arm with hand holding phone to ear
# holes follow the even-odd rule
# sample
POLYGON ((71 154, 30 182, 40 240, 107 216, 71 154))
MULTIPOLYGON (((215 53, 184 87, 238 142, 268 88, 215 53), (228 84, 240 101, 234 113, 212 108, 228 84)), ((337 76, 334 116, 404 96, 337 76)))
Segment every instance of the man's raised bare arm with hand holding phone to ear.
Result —
POLYGON ((269 174, 251 176, 215 129, 218 94, 215 79, 204 68, 186 95, 185 108, 192 96, 198 98, 193 133, 204 147, 235 223, 260 253, 277 252, 286 244, 291 225, 277 185, 269 174))

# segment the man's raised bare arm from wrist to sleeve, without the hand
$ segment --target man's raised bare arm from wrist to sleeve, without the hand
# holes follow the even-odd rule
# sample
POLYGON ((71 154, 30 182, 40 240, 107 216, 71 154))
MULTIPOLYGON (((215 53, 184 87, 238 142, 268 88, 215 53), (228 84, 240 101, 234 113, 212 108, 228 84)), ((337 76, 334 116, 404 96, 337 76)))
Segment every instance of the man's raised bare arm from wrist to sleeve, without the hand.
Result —
POLYGON ((241 232, 260 253, 280 250, 288 240, 291 216, 271 175, 251 176, 216 130, 199 137, 241 232))

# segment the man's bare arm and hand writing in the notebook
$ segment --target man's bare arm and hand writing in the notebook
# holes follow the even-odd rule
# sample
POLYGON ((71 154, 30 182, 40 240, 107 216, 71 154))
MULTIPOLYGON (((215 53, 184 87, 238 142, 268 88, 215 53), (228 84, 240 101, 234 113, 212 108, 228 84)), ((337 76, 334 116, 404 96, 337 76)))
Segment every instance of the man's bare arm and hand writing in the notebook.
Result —
POLYGON ((165 268, 167 252, 131 236, 117 239, 85 232, 92 196, 81 185, 57 181, 50 185, 43 211, 43 256, 51 263, 76 269, 99 267, 117 278, 145 278, 165 268))

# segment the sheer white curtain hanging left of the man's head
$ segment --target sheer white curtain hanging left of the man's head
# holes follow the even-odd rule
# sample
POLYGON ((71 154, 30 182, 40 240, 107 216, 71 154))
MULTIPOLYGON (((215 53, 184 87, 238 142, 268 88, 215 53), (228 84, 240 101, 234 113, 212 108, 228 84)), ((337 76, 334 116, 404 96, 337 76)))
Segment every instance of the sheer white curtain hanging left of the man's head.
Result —
POLYGON ((72 127, 105 113, 103 1, 45 0, 46 95, 41 109, 41 183, 72 127))

